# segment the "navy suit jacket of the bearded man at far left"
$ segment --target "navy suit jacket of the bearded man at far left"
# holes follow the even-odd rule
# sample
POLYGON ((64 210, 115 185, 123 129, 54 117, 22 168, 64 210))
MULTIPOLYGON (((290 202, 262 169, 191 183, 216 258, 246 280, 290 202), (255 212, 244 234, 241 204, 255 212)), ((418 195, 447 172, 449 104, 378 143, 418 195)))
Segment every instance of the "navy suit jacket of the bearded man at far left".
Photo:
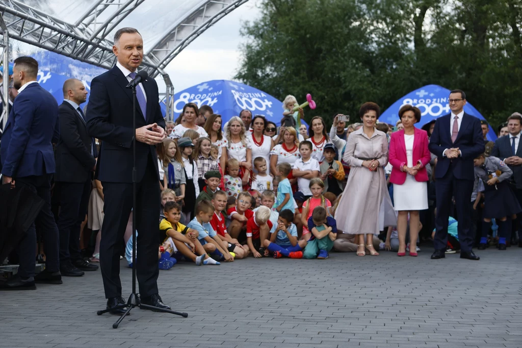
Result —
POLYGON ((28 85, 15 98, 4 128, 2 174, 23 178, 54 173, 52 143, 59 138, 56 99, 38 83, 28 85))

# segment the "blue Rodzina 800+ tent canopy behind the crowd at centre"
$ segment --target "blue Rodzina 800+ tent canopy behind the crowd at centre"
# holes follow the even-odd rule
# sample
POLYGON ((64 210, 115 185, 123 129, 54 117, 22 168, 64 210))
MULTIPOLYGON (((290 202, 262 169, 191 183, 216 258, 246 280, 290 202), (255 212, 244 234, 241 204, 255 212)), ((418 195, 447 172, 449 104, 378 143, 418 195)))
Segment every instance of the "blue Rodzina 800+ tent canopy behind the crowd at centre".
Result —
MULTIPOLYGON (((296 97, 300 103, 306 101, 304 96, 296 97)), ((230 80, 206 81, 174 94, 175 118, 180 115, 183 106, 188 102, 196 103, 198 107, 210 106, 214 113, 221 115, 223 124, 231 117, 239 116, 243 109, 250 110, 253 115, 264 115, 268 121, 278 126, 283 117, 281 101, 262 90, 230 80)))

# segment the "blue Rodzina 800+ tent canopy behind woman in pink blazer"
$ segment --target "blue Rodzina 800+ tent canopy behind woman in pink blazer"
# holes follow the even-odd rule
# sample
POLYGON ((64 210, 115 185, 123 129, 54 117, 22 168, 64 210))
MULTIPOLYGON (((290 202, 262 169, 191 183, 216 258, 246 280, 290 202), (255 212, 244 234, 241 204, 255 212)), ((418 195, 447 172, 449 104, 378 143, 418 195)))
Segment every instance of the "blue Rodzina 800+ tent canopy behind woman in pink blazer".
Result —
MULTIPOLYGON (((394 124, 399 120, 399 109, 406 104, 418 107, 421 114, 421 121, 416 124, 422 127, 424 124, 451 112, 449 109, 449 89, 438 85, 427 85, 409 92, 404 97, 397 100, 379 117, 380 122, 394 124)), ((464 106, 464 111, 470 115, 485 120, 480 112, 475 109, 469 102, 464 106)), ((493 128, 489 127, 487 135, 488 140, 495 141, 496 134, 493 128)))

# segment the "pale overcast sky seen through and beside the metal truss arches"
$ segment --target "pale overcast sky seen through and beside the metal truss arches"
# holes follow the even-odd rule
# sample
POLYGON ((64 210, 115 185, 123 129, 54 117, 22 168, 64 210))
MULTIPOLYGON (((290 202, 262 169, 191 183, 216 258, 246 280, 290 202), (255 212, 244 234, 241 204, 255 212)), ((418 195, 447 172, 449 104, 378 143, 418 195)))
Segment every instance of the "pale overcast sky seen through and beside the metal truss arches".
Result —
MULTIPOLYGON (((214 26, 191 42, 165 69, 170 75, 175 91, 197 85, 212 79, 232 79, 240 66, 239 46, 245 42, 240 36, 245 21, 259 17, 257 6, 262 0, 250 0, 230 14, 223 17, 214 26)), ((22 1, 23 2, 23 1, 22 1)), ((32 7, 69 23, 76 22, 94 3, 94 0, 25 0, 32 7)), ((147 0, 128 15, 118 27, 132 26, 144 37, 145 52, 156 42, 173 23, 180 13, 186 13, 200 3, 200 0, 147 0)), ((106 13, 112 13, 106 11, 106 13)), ((106 19, 105 13, 98 17, 98 22, 106 19)), ((19 43, 25 51, 40 49, 19 43)), ((30 52, 27 52, 30 53, 30 52)), ((164 83, 157 78, 160 90, 164 83)))

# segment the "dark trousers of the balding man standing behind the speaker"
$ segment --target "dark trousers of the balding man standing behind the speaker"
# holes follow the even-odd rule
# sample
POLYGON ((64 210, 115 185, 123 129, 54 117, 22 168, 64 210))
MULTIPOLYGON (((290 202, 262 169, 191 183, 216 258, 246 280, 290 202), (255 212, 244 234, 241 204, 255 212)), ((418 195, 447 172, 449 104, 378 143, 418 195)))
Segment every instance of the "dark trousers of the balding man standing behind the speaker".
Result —
POLYGON ((87 214, 91 193, 90 180, 85 182, 59 182, 61 188, 60 214, 60 264, 69 260, 81 259, 80 227, 87 214))

